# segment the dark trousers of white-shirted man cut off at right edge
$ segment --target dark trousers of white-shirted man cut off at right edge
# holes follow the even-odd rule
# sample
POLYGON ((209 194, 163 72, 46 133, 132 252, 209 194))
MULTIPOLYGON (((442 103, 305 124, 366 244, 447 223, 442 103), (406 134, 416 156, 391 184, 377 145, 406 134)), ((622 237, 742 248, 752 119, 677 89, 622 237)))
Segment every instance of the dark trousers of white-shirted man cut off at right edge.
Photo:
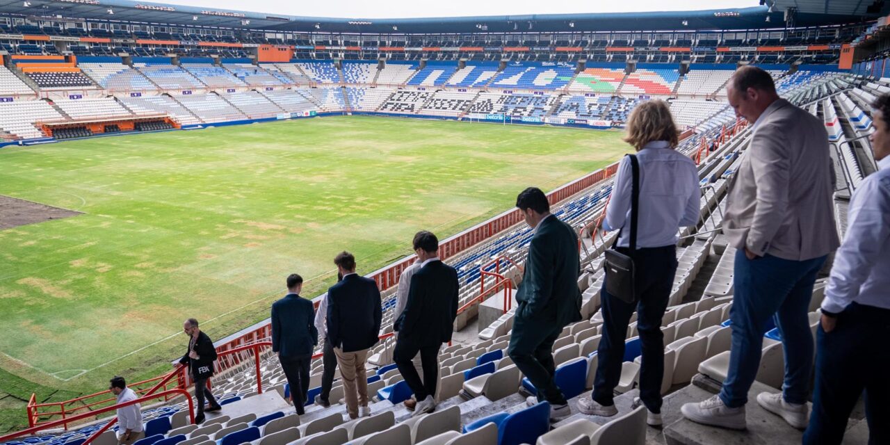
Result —
POLYGON ((838 444, 865 391, 869 443, 890 443, 890 310, 851 303, 837 326, 816 332, 816 390, 805 445, 838 444))

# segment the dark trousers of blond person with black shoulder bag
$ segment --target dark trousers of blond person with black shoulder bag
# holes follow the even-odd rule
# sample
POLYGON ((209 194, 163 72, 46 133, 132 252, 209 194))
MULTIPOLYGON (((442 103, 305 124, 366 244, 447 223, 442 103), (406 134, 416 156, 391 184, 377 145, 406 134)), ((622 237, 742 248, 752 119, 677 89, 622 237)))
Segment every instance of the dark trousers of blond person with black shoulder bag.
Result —
MULTIPOLYGON (((628 255, 629 249, 619 247, 628 255)), ((667 309, 676 273, 676 246, 637 249, 634 255, 636 304, 625 303, 618 297, 600 291, 603 300, 603 337, 596 352, 598 362, 594 380, 593 399, 603 406, 611 406, 615 386, 621 377, 624 343, 630 316, 636 310, 636 330, 640 333, 643 362, 640 368, 640 400, 653 413, 661 412, 661 381, 665 372, 664 335, 661 318, 667 309)))

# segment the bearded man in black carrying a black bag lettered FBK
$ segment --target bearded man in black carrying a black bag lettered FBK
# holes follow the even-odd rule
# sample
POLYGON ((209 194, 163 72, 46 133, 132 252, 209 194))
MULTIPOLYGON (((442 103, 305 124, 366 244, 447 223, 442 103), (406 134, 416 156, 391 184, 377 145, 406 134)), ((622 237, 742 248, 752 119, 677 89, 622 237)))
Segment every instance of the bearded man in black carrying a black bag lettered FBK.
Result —
POLYGON ((216 402, 214 394, 207 388, 207 380, 214 376, 214 361, 216 360, 216 348, 201 329, 198 328, 198 320, 189 319, 182 323, 182 332, 189 336, 189 349, 179 360, 183 365, 189 366, 191 379, 195 382, 195 398, 198 399, 198 416, 195 416, 195 424, 204 422, 204 412, 214 412, 223 409, 216 402), (204 399, 210 402, 210 408, 204 409, 204 399))

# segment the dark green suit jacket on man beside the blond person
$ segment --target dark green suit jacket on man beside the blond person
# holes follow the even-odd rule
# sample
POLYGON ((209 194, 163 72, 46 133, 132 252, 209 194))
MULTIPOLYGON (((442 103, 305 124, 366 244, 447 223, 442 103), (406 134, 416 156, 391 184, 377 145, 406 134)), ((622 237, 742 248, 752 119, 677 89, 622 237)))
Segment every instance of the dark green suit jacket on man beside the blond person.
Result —
POLYGON ((516 292, 516 317, 560 328, 581 320, 578 236, 569 224, 547 216, 531 237, 522 283, 516 292))

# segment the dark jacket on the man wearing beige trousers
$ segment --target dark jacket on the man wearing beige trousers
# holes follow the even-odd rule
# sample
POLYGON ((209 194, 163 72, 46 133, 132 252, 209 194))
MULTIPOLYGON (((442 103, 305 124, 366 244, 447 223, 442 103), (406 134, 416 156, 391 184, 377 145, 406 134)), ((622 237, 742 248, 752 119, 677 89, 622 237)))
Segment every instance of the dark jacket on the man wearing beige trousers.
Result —
POLYGON ((373 279, 350 274, 328 288, 328 341, 343 352, 368 349, 379 340, 383 311, 373 279))

